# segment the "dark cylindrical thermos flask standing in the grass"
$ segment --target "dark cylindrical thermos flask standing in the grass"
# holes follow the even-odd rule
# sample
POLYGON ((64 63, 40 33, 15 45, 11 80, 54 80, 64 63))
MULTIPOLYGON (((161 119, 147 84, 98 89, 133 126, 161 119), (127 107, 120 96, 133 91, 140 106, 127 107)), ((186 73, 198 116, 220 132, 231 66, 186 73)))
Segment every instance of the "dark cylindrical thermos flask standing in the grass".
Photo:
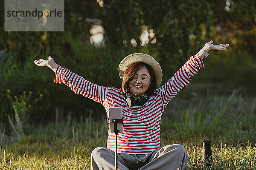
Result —
POLYGON ((204 166, 211 166, 212 161, 212 142, 203 141, 202 157, 204 166))

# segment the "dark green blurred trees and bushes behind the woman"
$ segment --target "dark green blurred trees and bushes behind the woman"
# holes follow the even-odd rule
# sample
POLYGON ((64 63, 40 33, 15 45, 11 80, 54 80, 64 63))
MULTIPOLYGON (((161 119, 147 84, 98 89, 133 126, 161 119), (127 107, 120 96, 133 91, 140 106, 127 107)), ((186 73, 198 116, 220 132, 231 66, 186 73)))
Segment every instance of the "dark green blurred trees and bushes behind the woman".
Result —
MULTIPOLYGON (((4 3, 1 0, 1 14, 4 3)), ((8 115, 26 113, 27 123, 54 120, 55 108, 71 112, 73 119, 89 115, 101 119, 104 108, 76 95, 65 85, 53 82, 49 68, 33 61, 50 55, 59 65, 85 79, 105 86, 119 86, 117 67, 128 54, 143 52, 160 62, 166 82, 186 60, 209 40, 229 43, 225 52, 211 52, 204 60, 206 69, 193 82, 206 86, 211 93, 229 93, 239 88, 255 96, 256 85, 256 3, 231 0, 104 0, 103 7, 92 0, 65 0, 64 32, 8 32, 1 26, 0 50, 0 122, 8 115), (229 11, 224 8, 230 4, 229 11), (102 21, 105 45, 90 43, 87 18, 102 21), (140 45, 142 29, 153 29, 156 43, 140 45), (136 40, 133 47, 131 39, 136 40), (207 82, 214 86, 207 85, 207 82), (212 88, 218 89, 216 91, 212 88), (9 91, 8 91, 9 89, 9 91), (31 92, 29 92, 31 91, 31 92), (16 97, 15 97, 16 96, 16 97), (30 105, 30 107, 29 107, 30 105)), ((3 23, 4 15, 0 15, 3 23)), ((197 91, 206 94, 205 91, 197 91)), ((184 96, 187 100, 190 92, 184 96)), ((8 133, 8 128, 6 132, 8 133)))

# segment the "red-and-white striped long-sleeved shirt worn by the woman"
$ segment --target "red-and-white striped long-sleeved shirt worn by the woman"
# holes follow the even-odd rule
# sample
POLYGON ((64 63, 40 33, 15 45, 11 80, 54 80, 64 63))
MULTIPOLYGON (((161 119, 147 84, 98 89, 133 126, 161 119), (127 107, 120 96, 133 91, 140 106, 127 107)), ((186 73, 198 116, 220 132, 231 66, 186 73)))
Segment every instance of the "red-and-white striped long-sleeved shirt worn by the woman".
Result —
MULTIPOLYGON (((124 117, 123 132, 117 135, 118 152, 128 154, 147 154, 160 147, 160 122, 168 102, 190 82, 204 63, 199 54, 189 60, 162 87, 157 94, 149 96, 143 106, 128 107, 125 94, 118 88, 104 87, 88 82, 67 68, 58 66, 54 82, 64 83, 76 94, 82 94, 102 104, 107 112, 113 107, 122 109, 124 117)), ((109 116, 108 116, 109 117, 109 116)), ((107 148, 115 150, 115 134, 108 130, 107 148)))

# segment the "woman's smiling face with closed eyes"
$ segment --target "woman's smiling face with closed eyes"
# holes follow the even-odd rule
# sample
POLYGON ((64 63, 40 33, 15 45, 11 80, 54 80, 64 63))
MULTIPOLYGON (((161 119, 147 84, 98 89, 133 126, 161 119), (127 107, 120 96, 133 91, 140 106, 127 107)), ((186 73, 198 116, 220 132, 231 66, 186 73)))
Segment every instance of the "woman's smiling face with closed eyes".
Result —
POLYGON ((139 71, 136 72, 133 79, 129 82, 131 95, 135 98, 139 96, 144 96, 145 91, 148 90, 150 83, 151 77, 148 73, 148 69, 145 67, 141 67, 139 71))

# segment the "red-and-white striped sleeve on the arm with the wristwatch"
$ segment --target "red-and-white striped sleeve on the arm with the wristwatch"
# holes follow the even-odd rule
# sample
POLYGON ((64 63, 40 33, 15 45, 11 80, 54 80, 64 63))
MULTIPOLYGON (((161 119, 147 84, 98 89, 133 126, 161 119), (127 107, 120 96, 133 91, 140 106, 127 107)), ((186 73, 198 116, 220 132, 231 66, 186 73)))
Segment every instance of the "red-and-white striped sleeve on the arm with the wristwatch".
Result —
POLYGON ((199 54, 196 54, 195 56, 190 57, 174 76, 159 88, 163 109, 168 102, 176 96, 181 88, 189 84, 190 77, 197 74, 198 70, 201 68, 204 68, 204 62, 199 54))

